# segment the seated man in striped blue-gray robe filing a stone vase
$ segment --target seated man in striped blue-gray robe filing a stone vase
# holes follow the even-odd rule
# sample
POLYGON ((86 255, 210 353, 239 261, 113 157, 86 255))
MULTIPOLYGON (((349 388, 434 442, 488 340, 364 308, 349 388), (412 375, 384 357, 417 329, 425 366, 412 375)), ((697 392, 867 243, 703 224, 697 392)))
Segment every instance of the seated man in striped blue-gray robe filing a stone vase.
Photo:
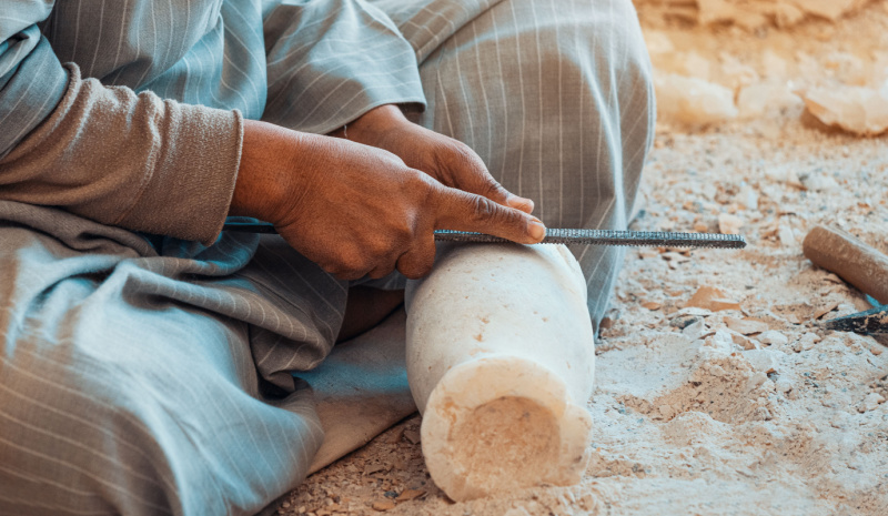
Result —
MULTIPOLYGON (((254 514, 350 287, 625 227, 652 139, 628 0, 0 0, 0 514, 254 514)), ((572 251, 597 325, 622 254, 572 251)))

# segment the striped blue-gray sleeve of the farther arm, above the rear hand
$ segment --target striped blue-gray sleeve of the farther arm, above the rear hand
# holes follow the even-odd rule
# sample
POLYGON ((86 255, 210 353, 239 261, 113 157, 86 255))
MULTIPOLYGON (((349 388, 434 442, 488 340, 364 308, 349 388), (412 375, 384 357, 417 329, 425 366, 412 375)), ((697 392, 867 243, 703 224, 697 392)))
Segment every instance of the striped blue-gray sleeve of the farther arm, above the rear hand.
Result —
POLYGON ((425 109, 416 54, 364 0, 265 0, 269 97, 263 120, 327 133, 382 104, 425 109))

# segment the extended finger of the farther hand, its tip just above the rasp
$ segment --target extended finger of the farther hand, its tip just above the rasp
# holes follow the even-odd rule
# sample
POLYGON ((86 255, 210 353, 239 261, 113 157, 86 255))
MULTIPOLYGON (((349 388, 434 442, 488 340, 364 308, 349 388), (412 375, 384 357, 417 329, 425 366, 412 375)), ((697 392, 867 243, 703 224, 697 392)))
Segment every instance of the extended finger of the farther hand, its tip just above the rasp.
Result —
MULTIPOLYGON (((468 145, 451 140, 446 145, 445 154, 450 158, 442 160, 447 169, 444 176, 451 178, 447 186, 465 190, 466 192, 484 195, 504 206, 515 208, 525 213, 534 210, 534 202, 529 199, 515 195, 493 179, 484 161, 468 145)), ((445 183, 446 184, 446 183, 445 183)))

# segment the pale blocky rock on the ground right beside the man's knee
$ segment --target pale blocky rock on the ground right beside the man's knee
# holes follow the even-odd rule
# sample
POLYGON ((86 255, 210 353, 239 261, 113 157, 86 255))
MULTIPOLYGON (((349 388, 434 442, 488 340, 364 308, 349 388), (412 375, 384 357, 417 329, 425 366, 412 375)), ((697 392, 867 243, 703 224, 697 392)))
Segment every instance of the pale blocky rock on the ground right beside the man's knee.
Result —
POLYGON ((657 115, 686 125, 708 125, 737 118, 734 92, 703 79, 655 74, 657 115))

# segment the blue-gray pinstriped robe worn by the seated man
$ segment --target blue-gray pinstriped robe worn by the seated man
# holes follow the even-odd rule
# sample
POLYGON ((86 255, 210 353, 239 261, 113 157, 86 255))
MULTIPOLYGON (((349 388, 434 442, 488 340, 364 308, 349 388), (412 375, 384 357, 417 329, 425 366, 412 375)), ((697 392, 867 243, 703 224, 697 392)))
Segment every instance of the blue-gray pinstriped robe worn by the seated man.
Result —
MULTIPOLYGON (((396 102, 548 225, 625 229, 653 136, 628 0, 0 0, 0 155, 77 68, 303 131, 396 102)), ((597 324, 623 252, 572 251, 597 324)), ((347 287, 275 236, 0 200, 0 514, 255 514, 323 438, 292 374, 330 353, 347 287)))

